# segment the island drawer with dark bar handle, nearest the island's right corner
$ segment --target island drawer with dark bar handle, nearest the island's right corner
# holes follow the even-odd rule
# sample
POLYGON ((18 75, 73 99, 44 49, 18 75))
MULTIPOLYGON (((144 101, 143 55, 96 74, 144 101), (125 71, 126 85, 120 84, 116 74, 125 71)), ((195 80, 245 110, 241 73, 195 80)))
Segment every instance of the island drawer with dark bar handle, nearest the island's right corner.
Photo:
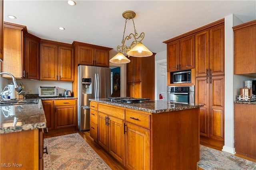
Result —
POLYGON ((138 111, 126 110, 125 121, 150 129, 150 115, 138 111))

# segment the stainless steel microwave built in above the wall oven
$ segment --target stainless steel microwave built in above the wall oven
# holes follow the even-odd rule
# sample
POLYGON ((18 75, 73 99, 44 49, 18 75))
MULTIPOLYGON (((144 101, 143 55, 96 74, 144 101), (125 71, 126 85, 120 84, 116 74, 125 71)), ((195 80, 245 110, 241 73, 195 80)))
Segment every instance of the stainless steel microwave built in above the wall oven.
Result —
POLYGON ((191 83, 191 70, 172 73, 173 83, 191 83))

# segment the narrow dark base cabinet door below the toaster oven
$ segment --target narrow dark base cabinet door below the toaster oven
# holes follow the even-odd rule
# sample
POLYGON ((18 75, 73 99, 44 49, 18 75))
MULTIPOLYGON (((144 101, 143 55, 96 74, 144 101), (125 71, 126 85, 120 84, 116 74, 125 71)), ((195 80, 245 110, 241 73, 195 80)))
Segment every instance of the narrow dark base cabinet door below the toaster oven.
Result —
POLYGON ((44 115, 46 118, 46 127, 48 130, 54 129, 54 104, 53 100, 42 100, 44 115))

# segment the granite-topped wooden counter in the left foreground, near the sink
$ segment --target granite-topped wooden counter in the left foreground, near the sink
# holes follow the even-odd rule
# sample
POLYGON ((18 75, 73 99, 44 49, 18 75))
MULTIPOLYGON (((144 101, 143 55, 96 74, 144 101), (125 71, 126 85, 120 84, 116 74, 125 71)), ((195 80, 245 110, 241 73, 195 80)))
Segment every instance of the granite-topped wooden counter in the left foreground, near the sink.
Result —
POLYGON ((46 119, 41 100, 36 104, 1 105, 0 126, 0 169, 42 170, 46 119))

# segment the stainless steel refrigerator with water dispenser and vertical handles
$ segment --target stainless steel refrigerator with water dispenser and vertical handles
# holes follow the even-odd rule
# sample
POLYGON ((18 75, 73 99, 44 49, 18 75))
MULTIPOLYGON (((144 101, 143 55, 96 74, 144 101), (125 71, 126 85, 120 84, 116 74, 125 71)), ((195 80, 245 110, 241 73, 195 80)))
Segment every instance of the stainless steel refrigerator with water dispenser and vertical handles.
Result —
POLYGON ((78 66, 78 129, 90 130, 89 99, 110 97, 110 68, 78 66))

